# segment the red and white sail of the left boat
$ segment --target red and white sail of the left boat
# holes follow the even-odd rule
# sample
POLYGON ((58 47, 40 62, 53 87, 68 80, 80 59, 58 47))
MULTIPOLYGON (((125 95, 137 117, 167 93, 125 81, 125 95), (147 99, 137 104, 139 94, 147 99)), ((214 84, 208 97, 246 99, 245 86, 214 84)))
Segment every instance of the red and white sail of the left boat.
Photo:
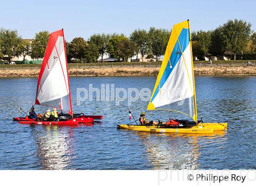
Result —
POLYGON ((73 115, 63 29, 50 35, 38 77, 36 104, 73 115))

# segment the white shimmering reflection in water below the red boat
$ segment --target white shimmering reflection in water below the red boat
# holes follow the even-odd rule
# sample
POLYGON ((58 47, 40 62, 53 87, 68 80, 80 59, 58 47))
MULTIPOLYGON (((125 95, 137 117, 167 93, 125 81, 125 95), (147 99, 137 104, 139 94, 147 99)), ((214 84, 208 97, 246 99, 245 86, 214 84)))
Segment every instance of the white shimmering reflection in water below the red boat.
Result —
MULTIPOLYGON (((35 130, 35 129, 34 129, 35 130)), ((37 142, 37 157, 42 169, 68 169, 74 158, 72 128, 47 126, 43 133, 34 132, 37 142)))

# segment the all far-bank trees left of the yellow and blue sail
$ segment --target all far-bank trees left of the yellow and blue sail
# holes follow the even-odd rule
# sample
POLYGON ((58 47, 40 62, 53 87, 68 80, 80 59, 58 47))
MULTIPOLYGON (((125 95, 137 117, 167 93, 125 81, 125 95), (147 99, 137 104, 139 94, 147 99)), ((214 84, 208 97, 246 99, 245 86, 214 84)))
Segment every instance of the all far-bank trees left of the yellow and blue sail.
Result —
MULTIPOLYGON (((129 37, 124 34, 93 34, 85 41, 82 37, 75 37, 71 42, 65 41, 67 59, 75 59, 75 62, 96 62, 107 52, 111 57, 117 58, 119 61, 128 61, 129 57, 137 56, 140 53, 143 57, 145 54, 149 57, 155 55, 157 58, 164 55, 167 46, 170 31, 150 27, 149 31, 144 29, 134 30, 129 37), (152 55, 153 54, 153 55, 152 55)), ((0 30, 0 58, 23 56, 25 61, 26 55, 32 58, 43 58, 45 49, 48 44, 50 33, 48 31, 40 31, 36 33, 32 42, 24 41, 18 35, 16 30, 1 29, 0 30)))

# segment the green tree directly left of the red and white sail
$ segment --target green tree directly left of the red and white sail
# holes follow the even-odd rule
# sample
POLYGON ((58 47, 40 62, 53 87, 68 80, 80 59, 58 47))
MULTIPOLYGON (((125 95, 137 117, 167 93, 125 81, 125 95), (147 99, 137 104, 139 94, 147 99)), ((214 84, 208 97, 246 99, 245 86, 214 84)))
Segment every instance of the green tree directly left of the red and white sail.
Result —
POLYGON ((43 58, 50 33, 48 31, 40 31, 36 33, 36 36, 31 44, 31 57, 43 58))

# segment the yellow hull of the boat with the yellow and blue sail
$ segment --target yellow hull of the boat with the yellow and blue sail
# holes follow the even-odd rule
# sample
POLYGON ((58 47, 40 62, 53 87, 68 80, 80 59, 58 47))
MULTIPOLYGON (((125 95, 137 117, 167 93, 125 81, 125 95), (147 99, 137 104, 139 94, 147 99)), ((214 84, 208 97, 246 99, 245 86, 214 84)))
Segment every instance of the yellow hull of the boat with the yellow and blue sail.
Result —
POLYGON ((144 131, 144 132, 165 132, 165 133, 213 133, 213 131, 224 130, 227 123, 200 123, 191 128, 162 128, 157 125, 119 125, 119 128, 144 131))

